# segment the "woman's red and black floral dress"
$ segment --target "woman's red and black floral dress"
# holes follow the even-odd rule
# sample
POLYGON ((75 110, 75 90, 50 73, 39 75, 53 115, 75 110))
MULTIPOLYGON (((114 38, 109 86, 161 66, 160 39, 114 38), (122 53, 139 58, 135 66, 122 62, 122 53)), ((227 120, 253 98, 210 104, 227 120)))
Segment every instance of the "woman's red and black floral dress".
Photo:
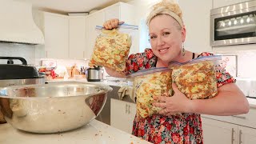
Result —
MULTIPOLYGON (((204 52, 198 57, 210 55, 213 54, 204 52)), ((131 54, 126 62, 126 74, 155 67, 156 63, 157 57, 151 49, 146 49, 143 53, 131 54)), ((222 66, 217 66, 215 69, 218 87, 235 82, 235 79, 226 73, 222 66)), ((203 143, 200 114, 182 113, 182 115, 172 117, 154 114, 148 118, 135 116, 132 134, 156 144, 203 143)))

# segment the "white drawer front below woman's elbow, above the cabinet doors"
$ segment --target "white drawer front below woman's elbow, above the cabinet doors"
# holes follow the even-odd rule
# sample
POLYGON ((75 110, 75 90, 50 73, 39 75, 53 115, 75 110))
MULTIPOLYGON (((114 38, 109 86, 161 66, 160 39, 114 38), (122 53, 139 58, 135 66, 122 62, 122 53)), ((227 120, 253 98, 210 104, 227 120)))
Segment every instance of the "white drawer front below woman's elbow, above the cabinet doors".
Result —
POLYGON ((256 109, 250 108, 248 114, 238 114, 233 116, 215 116, 215 115, 201 115, 203 118, 212 118, 222 122, 230 122, 240 126, 248 126, 256 128, 256 109))

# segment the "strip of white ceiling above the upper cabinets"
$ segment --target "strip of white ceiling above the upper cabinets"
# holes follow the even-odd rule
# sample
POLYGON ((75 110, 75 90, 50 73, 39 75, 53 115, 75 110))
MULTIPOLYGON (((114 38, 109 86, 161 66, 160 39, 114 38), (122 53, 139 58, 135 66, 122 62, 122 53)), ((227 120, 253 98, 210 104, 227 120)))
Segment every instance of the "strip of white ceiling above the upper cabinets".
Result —
POLYGON ((39 10, 55 12, 60 14, 90 12, 100 10, 116 2, 130 2, 131 0, 14 0, 30 2, 39 10))

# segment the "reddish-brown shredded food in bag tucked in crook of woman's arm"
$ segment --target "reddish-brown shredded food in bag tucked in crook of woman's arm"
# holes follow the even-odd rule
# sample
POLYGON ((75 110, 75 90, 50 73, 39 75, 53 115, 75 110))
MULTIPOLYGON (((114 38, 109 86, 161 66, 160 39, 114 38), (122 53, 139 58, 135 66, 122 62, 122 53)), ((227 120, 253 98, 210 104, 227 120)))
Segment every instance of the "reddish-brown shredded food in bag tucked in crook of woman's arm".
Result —
POLYGON ((170 69, 172 81, 187 98, 213 98, 218 94, 214 62, 194 62, 170 69))

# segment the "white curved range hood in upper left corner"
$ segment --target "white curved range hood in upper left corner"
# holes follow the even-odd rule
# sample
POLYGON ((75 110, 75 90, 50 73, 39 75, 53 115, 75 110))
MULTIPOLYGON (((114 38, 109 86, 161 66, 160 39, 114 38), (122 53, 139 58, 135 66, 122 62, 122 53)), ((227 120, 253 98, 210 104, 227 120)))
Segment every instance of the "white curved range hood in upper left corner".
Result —
POLYGON ((32 4, 1 0, 0 42, 43 44, 42 31, 34 23, 32 4))

